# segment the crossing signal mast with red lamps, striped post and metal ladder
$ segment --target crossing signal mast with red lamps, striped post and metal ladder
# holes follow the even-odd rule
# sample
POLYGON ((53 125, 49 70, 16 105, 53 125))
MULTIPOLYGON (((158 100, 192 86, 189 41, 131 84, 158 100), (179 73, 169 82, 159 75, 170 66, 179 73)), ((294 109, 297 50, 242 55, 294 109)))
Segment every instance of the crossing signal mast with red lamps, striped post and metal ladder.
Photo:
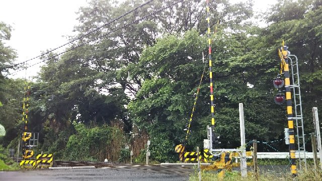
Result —
MULTIPOLYGON (((285 143, 289 144, 289 155, 291 161, 291 173, 293 175, 297 174, 297 168, 295 163, 295 139, 294 139, 294 123, 296 121, 296 131, 297 131, 297 144, 298 144, 298 158, 299 167, 305 166, 306 169, 306 155, 305 155, 305 142, 304 142, 304 128, 303 128, 303 116, 302 116, 302 102, 301 102, 301 92, 298 74, 298 61, 295 55, 291 55, 287 50, 288 47, 282 42, 282 47, 278 50, 278 55, 281 60, 280 74, 277 78, 273 80, 274 87, 282 88, 285 83, 285 96, 286 96, 286 112, 288 128, 285 128, 285 143), (295 57, 296 62, 293 63, 291 57, 295 57), (289 64, 291 65, 291 76, 289 71, 289 64), (284 74, 284 80, 281 76, 284 74), (292 80, 292 84, 290 81, 292 80), (294 101, 294 112, 295 117, 293 117, 293 107, 292 107, 292 96, 291 88, 293 89, 293 101, 294 101)), ((276 104, 283 104, 285 97, 281 91, 275 96, 274 101, 276 104)))

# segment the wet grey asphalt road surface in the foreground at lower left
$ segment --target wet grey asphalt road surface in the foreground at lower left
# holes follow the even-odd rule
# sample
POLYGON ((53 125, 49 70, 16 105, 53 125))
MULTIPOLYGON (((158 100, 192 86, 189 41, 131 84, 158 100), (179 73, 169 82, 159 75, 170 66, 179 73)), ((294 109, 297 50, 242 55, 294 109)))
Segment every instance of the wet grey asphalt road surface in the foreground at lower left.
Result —
MULTIPOLYGON (((179 168, 171 168, 176 170, 179 168)), ((26 171, 3 171, 0 172, 0 180, 6 181, 47 181, 47 180, 108 180, 108 181, 148 181, 148 180, 189 180, 188 171, 159 171, 149 167, 136 168, 73 168, 73 169, 40 169, 26 171), (163 173, 164 172, 164 173, 163 173)))

